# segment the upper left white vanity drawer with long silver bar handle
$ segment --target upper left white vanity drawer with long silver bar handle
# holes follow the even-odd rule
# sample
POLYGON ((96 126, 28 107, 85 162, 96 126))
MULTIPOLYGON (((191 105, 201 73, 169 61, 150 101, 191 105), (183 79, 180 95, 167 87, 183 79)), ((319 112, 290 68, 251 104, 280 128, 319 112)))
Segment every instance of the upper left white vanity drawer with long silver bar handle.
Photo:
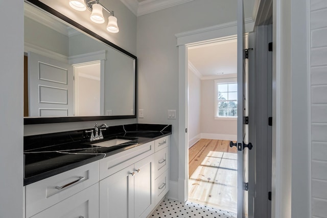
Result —
POLYGON ((25 186, 26 217, 31 217, 97 182, 99 161, 29 184, 25 186))

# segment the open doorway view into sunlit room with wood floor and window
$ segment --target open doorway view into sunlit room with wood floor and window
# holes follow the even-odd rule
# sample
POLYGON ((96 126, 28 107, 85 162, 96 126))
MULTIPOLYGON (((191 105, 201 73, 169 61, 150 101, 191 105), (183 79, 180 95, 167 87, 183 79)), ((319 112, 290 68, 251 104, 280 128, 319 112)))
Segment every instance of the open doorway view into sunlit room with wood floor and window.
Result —
POLYGON ((237 212, 237 37, 187 47, 188 201, 237 212))

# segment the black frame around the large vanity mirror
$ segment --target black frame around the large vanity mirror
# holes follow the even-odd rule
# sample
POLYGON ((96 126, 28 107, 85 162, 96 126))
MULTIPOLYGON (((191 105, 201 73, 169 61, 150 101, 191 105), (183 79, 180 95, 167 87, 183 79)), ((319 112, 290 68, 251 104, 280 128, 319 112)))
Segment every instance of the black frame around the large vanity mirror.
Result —
POLYGON ((30 124, 42 124, 42 123, 64 123, 64 122, 81 122, 81 121, 95 121, 95 120, 118 120, 118 119, 133 119, 136 118, 136 104, 137 104, 137 57, 132 55, 130 52, 124 50, 123 48, 113 44, 112 42, 106 40, 105 38, 99 36, 98 34, 86 29, 83 25, 75 22, 74 20, 66 17, 65 15, 59 13, 58 11, 54 10, 53 8, 45 5, 44 3, 38 0, 25 0, 25 2, 32 4, 56 17, 59 19, 75 26, 75 28, 83 31, 84 33, 104 42, 105 44, 113 47, 116 50, 119 50, 125 55, 135 59, 135 90, 134 90, 134 115, 126 115, 126 116, 90 116, 90 117, 31 117, 31 118, 24 118, 24 125, 30 124))

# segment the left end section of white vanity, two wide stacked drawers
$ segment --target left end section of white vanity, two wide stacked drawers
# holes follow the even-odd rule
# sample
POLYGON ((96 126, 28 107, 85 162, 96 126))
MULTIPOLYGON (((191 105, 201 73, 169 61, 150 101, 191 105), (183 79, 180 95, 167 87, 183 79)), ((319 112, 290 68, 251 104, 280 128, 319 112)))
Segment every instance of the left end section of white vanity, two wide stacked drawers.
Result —
POLYGON ((99 161, 95 161, 26 185, 26 218, 79 217, 71 215, 74 210, 77 210, 74 211, 77 214, 80 211, 81 216, 88 211, 89 214, 84 215, 84 218, 98 217, 99 215, 90 216, 99 213, 98 182, 99 161), (92 188, 88 189, 90 186, 92 188), (50 211, 55 212, 51 215, 50 211), (59 216, 60 213, 63 216, 59 216))

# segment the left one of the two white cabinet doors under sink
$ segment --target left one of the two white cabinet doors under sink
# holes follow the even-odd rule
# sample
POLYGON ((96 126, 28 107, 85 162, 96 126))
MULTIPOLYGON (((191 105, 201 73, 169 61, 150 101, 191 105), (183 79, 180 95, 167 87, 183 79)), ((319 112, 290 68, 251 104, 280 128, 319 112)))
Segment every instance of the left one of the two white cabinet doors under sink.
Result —
POLYGON ((108 176, 100 184, 100 218, 134 217, 134 165, 108 176))

